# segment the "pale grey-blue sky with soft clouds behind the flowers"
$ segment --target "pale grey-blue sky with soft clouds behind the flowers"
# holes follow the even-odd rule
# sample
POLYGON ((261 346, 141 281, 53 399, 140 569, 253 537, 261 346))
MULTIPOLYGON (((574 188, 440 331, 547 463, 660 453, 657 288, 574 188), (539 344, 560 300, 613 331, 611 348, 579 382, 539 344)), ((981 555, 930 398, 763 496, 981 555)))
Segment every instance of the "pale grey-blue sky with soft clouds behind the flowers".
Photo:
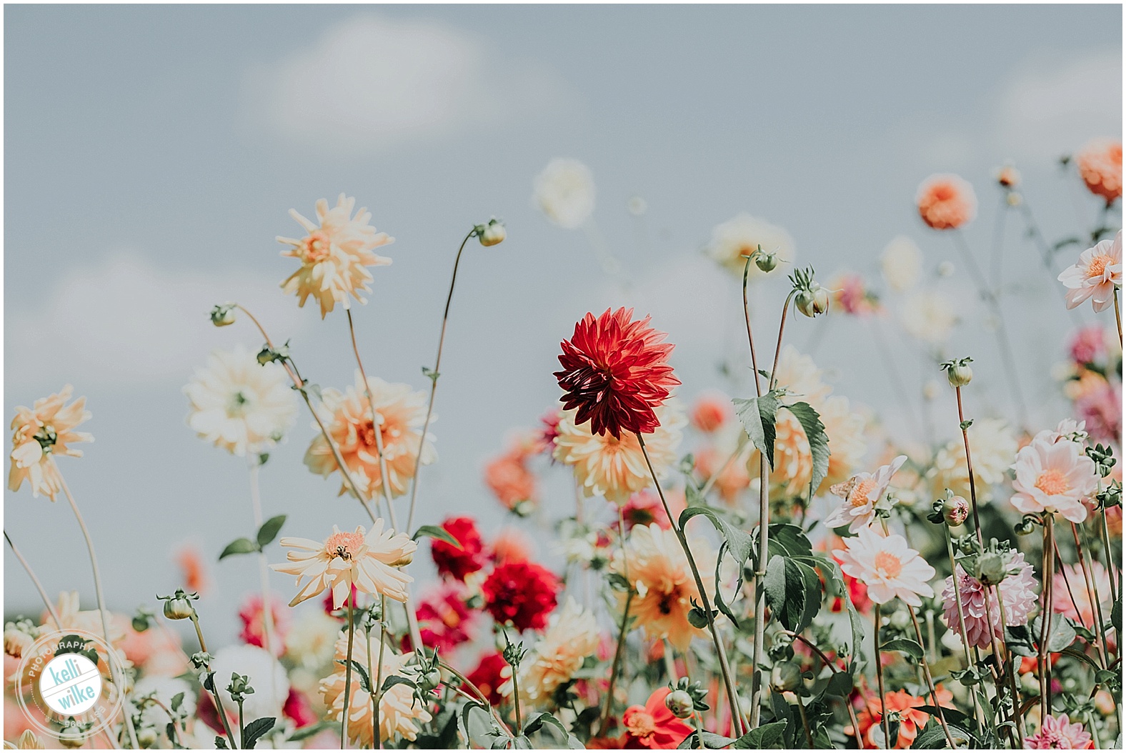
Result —
MULTIPOLYGON (((1052 278, 1066 260, 1051 275, 1039 266, 1016 215, 999 212, 993 173, 1017 164, 1049 239, 1093 225, 1098 204, 1058 156, 1121 136, 1120 6, 8 6, 5 43, 5 411, 64 384, 88 397, 96 441, 60 465, 116 611, 179 585, 178 547, 214 563, 252 529, 244 463, 185 425, 181 388, 206 355, 261 344, 244 322, 213 328, 214 304, 250 307, 313 382, 352 382, 346 321, 282 294, 293 262, 275 241, 298 232, 291 207, 311 215, 341 191, 395 237, 382 250, 394 263, 374 270, 355 308, 367 369, 415 389, 457 243, 491 216, 508 226, 504 243, 471 245, 462 263, 419 522, 466 512, 488 535, 506 525, 482 465, 553 405, 558 342, 588 311, 652 314, 677 343, 682 402, 745 393, 717 371, 729 359, 745 373, 739 286, 700 252, 740 212, 785 227, 819 277, 851 269, 878 289, 879 254, 900 235, 928 270, 953 262, 933 281, 960 319, 941 352, 976 358, 971 413, 1013 420, 988 312, 950 239, 914 213, 933 172, 973 183, 965 237, 983 263, 1004 217, 1029 423, 1066 414, 1047 374, 1093 315, 1063 311, 1052 278), (593 173, 587 232, 552 225, 530 200, 557 156, 593 173), (627 210, 634 197, 641 216, 627 210), (625 288, 591 237, 620 260, 625 288)), ((776 326, 786 292, 781 280, 754 289, 757 326, 776 326)), ((899 333, 899 303, 888 298, 881 328, 918 401, 938 374, 899 333)), ((908 421, 869 325, 799 319, 787 342, 891 433, 956 431, 945 393, 930 434, 908 421)), ((289 516, 284 534, 319 539, 366 520, 302 465, 312 437, 302 413, 262 469, 262 495, 267 516, 289 516)), ((547 518, 571 510, 562 473, 548 473, 547 518)), ((91 608, 65 503, 27 488, 3 501, 5 529, 47 592, 77 589, 91 608)), ((5 615, 38 613, 7 549, 3 564, 5 615)), ((216 643, 234 640, 254 571, 245 558, 212 565, 200 611, 216 643)), ((294 586, 275 575, 271 588, 294 586)))

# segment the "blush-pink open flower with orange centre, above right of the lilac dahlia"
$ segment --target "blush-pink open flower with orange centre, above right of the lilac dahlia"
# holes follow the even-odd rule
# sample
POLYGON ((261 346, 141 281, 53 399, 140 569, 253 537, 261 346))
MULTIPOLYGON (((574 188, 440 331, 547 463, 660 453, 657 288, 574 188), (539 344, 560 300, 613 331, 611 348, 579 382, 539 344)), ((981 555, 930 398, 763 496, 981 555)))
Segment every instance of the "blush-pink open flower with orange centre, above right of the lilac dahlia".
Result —
POLYGON ((1022 513, 1057 512, 1073 523, 1087 519, 1083 500, 1099 491, 1094 460, 1079 442, 1034 439, 1017 452, 1012 507, 1022 513))

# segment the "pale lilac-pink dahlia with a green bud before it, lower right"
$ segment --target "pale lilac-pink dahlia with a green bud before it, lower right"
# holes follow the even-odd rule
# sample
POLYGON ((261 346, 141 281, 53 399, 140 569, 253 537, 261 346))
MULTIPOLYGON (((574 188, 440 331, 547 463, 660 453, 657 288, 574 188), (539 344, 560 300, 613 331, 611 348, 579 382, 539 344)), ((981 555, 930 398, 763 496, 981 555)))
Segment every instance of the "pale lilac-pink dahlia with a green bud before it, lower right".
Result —
POLYGON ((1036 579, 1033 566, 1025 562, 1025 553, 1013 555, 1011 566, 1018 568, 1015 574, 1007 575, 1001 583, 990 588, 989 617, 985 617, 985 586, 973 575, 958 565, 958 590, 955 594, 954 579, 947 576, 942 589, 942 619, 954 633, 962 635, 958 622, 958 603, 956 595, 962 597, 962 613, 966 618, 966 639, 971 646, 989 648, 992 636, 1004 639, 1001 629, 1001 602, 1004 602, 1004 624, 1008 627, 1025 625, 1029 613, 1036 607, 1036 579), (998 597, 997 591, 1001 591, 998 597), (992 626, 992 629, 991 629, 992 626))

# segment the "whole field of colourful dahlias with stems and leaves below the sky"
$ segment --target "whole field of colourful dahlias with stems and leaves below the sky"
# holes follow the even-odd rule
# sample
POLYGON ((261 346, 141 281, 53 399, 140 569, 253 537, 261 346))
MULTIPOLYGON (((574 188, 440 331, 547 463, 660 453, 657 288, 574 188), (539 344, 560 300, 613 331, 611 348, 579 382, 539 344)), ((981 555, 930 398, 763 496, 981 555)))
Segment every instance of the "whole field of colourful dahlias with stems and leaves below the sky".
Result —
MULTIPOLYGON (((557 333, 558 370, 543 374, 557 402, 483 440, 503 448, 480 468, 511 523, 500 531, 481 511, 435 516, 427 478, 439 449, 459 451, 439 442, 438 412, 484 410, 443 401, 457 379, 443 360, 447 325, 474 295, 458 271, 520 228, 481 218, 449 240, 435 358, 404 384, 373 367, 354 320, 393 284, 394 239, 373 224, 393 219, 346 194, 289 219, 279 209, 292 274, 277 296, 347 333, 354 380, 318 384, 319 365, 288 333, 216 302, 211 325, 245 344, 198 365, 182 431, 244 459, 256 527, 180 553, 179 588, 138 593, 132 613, 104 598, 99 557, 115 552, 89 534, 83 490, 66 483, 98 410, 75 396, 82 375, 9 409, 9 488, 72 511, 87 549, 65 556, 83 579, 90 568, 95 591, 82 595, 97 609, 80 608, 86 580, 50 594, 42 550, 6 530, 21 567, 7 577, 28 579, 43 602, 5 625, 6 747, 1120 747, 1121 143, 1091 141, 1060 169, 1098 217, 1067 236, 1044 235, 1012 165, 988 187, 926 178, 903 217, 958 254, 993 322, 982 352, 949 351, 959 312, 921 283, 929 272, 906 237, 883 251, 878 277, 828 276, 798 263, 786 230, 748 214, 716 225, 704 249, 738 292, 722 305, 750 366, 740 379, 689 393, 658 317, 575 311, 557 333), (1051 424, 1021 410, 1033 376, 1009 334, 999 251, 964 232, 995 221, 980 204, 1020 227, 1012 248, 1055 290, 1045 307, 1094 314, 1043 343, 1069 355, 1034 375, 1070 406, 1051 424), (785 303, 752 316, 763 290, 785 303), (924 385, 903 384, 901 357, 877 352, 878 338, 846 368, 893 374, 902 394, 950 405, 936 419, 947 439, 886 430, 885 413, 902 419, 897 396, 869 409, 835 392, 817 341, 794 337, 797 322, 834 319, 917 343, 932 370, 924 385), (1011 410, 967 410, 981 405, 983 365, 1003 374, 1011 410), (283 512, 267 517, 258 486, 298 424, 312 432, 305 468, 342 500, 309 529, 284 512, 296 501, 271 501, 283 512), (358 518, 337 519, 343 503, 358 518), (199 600, 216 558, 260 583, 227 645, 199 600), (419 575, 425 561, 437 579, 419 575), (89 711, 60 711, 37 684, 68 653, 97 667, 89 711)), ((558 232, 589 228, 593 181, 581 162, 553 160, 531 198, 558 232)), ((589 236, 617 279, 618 260, 589 236)))

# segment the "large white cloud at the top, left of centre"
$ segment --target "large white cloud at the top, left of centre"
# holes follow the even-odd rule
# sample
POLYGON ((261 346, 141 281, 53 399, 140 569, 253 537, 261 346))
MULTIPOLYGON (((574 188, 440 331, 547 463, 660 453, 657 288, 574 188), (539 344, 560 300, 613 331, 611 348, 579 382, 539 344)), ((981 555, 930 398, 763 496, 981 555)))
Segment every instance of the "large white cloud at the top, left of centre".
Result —
POLYGON ((568 109, 571 90, 527 62, 499 64, 477 38, 429 20, 360 15, 245 79, 248 117, 287 140, 378 152, 466 126, 568 109))

